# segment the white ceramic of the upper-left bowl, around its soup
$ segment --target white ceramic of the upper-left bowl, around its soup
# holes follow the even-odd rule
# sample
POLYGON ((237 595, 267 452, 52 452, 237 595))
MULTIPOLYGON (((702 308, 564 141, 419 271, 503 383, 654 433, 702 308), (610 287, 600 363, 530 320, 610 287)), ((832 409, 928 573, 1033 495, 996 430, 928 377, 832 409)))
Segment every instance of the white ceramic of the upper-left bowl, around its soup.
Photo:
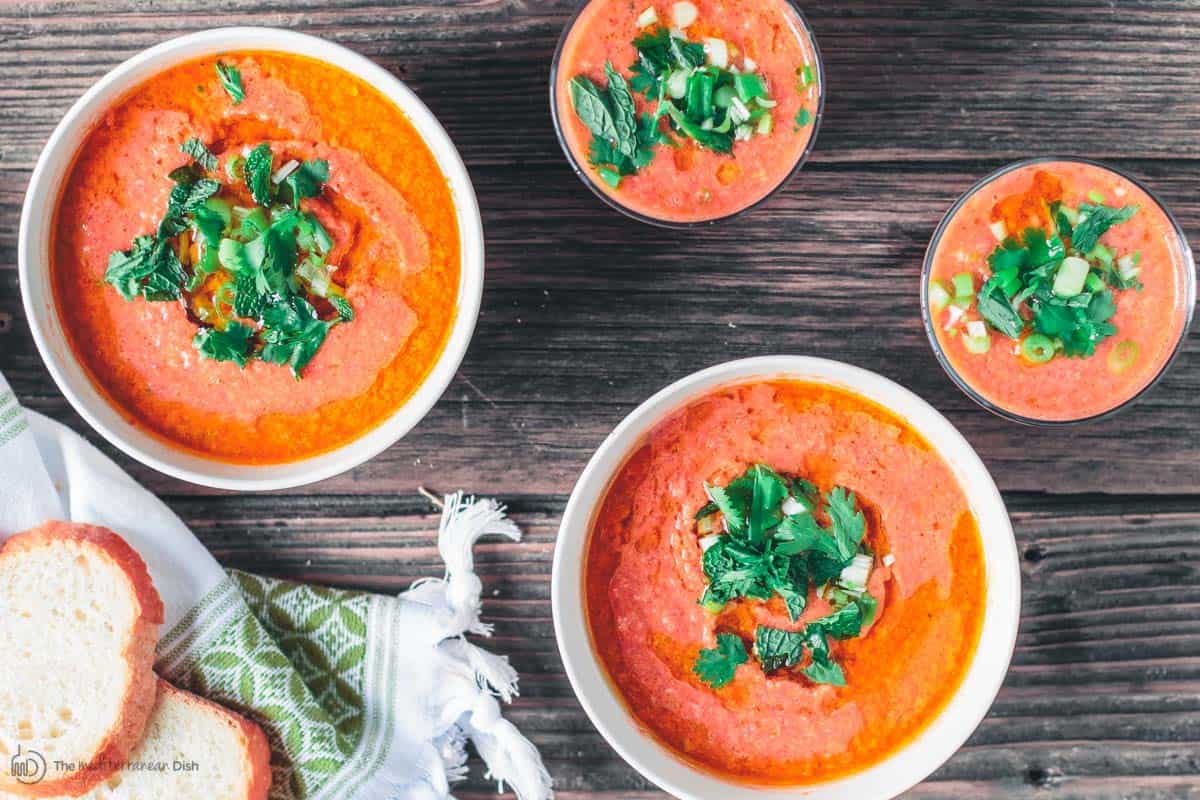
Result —
POLYGON ((167 475, 222 489, 268 491, 302 486, 344 473, 390 447, 421 421, 450 384, 470 343, 484 291, 484 229, 467 168, 446 132, 413 91, 353 50, 314 36, 274 28, 220 28, 190 34, 138 53, 101 78, 50 134, 37 160, 22 209, 17 245, 20 291, 34 341, 71 405, 115 447, 167 475), (445 174, 458 217, 462 270, 458 307, 445 349, 416 392, 378 427, 328 453, 271 465, 204 458, 131 425, 92 385, 67 344, 50 290, 49 241, 54 206, 76 151, 113 102, 176 64, 236 50, 294 53, 341 67, 394 102, 425 139, 445 174))

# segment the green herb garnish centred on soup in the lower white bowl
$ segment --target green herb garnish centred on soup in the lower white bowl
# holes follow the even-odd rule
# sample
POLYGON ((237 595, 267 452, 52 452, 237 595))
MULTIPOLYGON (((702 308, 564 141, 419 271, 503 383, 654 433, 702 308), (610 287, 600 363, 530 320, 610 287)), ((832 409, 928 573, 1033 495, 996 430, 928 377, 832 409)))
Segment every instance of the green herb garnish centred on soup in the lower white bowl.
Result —
MULTIPOLYGON (((822 524, 814 516, 822 499, 816 486, 788 480, 764 464, 754 464, 725 486, 704 487, 710 503, 697 513, 697 529, 710 534, 701 566, 708 585, 700 602, 716 613, 737 599, 758 601, 779 596, 797 621, 811 587, 821 587, 833 606, 827 616, 800 631, 760 626, 754 652, 764 672, 800 663, 810 652, 804 674, 814 682, 844 684, 826 637, 859 636, 871 624, 876 601, 866 594, 874 564, 864 545, 866 518, 852 492, 834 487, 823 498, 822 524), (709 524, 720 519, 720 525, 709 524)), ((706 651, 707 652, 707 651, 706 651)))

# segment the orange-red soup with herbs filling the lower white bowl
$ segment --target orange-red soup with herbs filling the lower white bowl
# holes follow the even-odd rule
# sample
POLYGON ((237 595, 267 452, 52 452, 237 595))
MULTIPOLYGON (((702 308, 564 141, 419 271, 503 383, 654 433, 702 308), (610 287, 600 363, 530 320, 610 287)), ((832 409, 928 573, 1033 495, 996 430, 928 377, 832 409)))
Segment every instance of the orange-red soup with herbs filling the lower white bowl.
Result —
POLYGON ((907 423, 792 380, 659 422, 592 523, 593 645, 686 760, 814 783, 911 741, 958 690, 986 570, 966 494, 907 423))

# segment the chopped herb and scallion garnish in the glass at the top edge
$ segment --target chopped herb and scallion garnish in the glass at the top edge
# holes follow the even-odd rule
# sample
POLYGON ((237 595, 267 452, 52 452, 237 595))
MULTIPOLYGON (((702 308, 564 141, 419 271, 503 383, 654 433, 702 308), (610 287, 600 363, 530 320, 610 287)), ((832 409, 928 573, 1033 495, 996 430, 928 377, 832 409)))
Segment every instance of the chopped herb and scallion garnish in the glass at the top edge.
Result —
POLYGON ((704 44, 662 26, 638 35, 634 47, 629 80, 606 64, 605 88, 587 76, 569 84, 575 113, 592 133, 588 161, 613 188, 648 167, 658 145, 679 146, 676 137, 731 154, 736 140, 774 128, 775 102, 756 72, 713 62, 704 44), (644 96, 653 112, 638 114, 635 95, 644 96))

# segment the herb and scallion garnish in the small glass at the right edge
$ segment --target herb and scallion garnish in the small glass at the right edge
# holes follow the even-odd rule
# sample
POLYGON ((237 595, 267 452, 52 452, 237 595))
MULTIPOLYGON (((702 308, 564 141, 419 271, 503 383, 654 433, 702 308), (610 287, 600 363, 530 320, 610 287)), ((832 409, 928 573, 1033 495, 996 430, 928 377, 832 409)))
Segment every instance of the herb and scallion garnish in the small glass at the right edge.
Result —
MULTIPOLYGON (((1057 182, 1039 174, 1031 192, 1045 186, 1057 182)), ((990 327, 1020 341, 1019 353, 1030 363, 1045 363, 1056 354, 1091 356, 1100 342, 1117 332, 1110 321, 1116 313, 1115 291, 1141 288, 1140 253, 1117 258, 1099 243, 1110 228, 1129 221, 1138 206, 1082 203, 1072 209, 1036 194, 1009 198, 1001 206, 1037 207, 1039 201, 1044 203, 1040 216, 1046 225, 1004 236, 988 258, 991 275, 977 293, 971 273, 955 276, 953 293, 940 282, 930 287, 935 311, 952 302, 958 306, 952 309, 952 320, 966 323, 965 343, 972 353, 988 350, 990 327), (960 278, 970 291, 959 290, 960 278), (982 321, 971 321, 966 313, 972 301, 982 321)), ((995 224, 1001 225, 998 237, 1004 233, 1003 222, 995 224)))

